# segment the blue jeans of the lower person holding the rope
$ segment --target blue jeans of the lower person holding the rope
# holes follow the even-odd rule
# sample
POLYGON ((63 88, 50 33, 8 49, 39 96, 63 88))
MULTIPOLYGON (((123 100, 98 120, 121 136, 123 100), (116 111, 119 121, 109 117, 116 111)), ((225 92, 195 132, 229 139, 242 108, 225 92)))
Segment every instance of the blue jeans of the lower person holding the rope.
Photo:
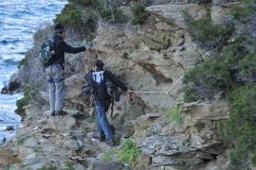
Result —
POLYGON ((101 135, 105 135, 106 140, 113 139, 113 131, 106 117, 105 105, 101 100, 95 99, 94 105, 97 113, 98 129, 101 135))

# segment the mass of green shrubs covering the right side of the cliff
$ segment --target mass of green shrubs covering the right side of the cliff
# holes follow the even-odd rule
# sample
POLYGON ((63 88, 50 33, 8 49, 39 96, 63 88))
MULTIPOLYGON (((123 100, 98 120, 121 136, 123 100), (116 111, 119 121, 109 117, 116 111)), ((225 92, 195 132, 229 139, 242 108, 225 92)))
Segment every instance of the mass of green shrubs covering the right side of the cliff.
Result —
MULTIPOLYGON (((250 26, 253 7, 255 1, 251 0, 234 7, 231 14, 235 22, 250 26)), ((199 20, 186 16, 186 21, 192 40, 211 52, 185 74, 184 99, 186 102, 216 97, 229 100, 229 119, 218 124, 219 134, 230 146, 233 168, 249 169, 251 164, 256 165, 256 40, 247 32, 230 40, 233 24, 213 25, 210 16, 199 20)))

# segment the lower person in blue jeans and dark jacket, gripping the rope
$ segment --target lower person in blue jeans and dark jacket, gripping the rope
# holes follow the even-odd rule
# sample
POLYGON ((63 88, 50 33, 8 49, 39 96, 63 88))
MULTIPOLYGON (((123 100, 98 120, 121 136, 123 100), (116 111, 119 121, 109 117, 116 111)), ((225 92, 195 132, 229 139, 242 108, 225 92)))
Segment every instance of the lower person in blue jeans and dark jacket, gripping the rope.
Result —
POLYGON ((93 104, 97 113, 98 130, 101 134, 101 140, 106 140, 107 144, 114 145, 114 134, 106 117, 106 111, 109 109, 111 97, 119 101, 119 93, 116 87, 124 92, 131 92, 119 79, 109 71, 103 70, 104 63, 97 59, 94 62, 94 68, 85 76, 90 87, 88 91, 93 94, 93 104))

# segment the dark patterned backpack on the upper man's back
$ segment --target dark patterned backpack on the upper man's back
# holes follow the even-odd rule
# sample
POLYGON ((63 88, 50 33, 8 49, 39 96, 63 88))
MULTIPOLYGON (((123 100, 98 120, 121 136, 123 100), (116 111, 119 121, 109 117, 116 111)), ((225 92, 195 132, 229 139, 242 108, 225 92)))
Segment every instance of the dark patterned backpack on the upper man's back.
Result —
POLYGON ((53 64, 55 59, 54 39, 46 39, 41 45, 40 61, 44 68, 53 64))

